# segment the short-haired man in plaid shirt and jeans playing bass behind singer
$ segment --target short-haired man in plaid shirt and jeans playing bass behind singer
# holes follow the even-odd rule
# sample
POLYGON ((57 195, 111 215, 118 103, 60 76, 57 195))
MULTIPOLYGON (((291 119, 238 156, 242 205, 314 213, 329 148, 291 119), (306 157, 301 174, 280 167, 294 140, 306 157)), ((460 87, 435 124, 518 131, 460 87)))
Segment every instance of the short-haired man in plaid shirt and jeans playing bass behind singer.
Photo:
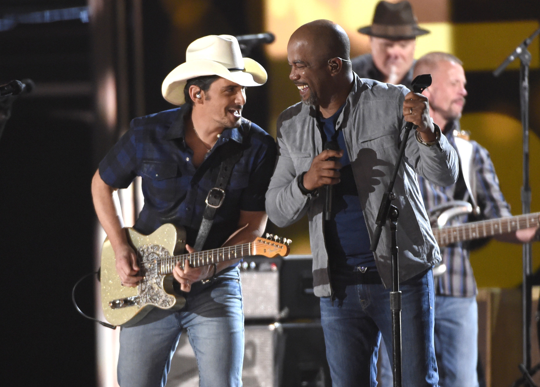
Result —
MULTIPOLYGON (((430 52, 414 67, 414 77, 430 73, 433 82, 423 94, 429 99, 431 117, 442 128, 450 144, 458 150, 456 142, 461 138, 459 119, 465 104, 465 72, 460 59, 443 52, 430 52)), ((471 157, 460 157, 460 177, 455 185, 437 186, 419 176, 420 191, 426 208, 443 203, 470 201, 480 210, 480 218, 492 219, 511 216, 510 206, 504 200, 488 151, 476 141, 468 141, 471 157), (469 164, 469 168, 464 168, 469 164), (463 169, 470 171, 465 176, 463 169), (469 184, 465 182, 469 180, 469 184), (468 188, 472 187, 472 188, 468 188)), ((460 151, 458 150, 458 155, 460 151)), ((468 215, 456 216, 451 225, 470 220, 468 215)), ((477 219, 476 219, 477 220, 477 219)), ((498 240, 528 243, 535 239, 538 228, 517 230, 497 236, 498 240)), ((446 270, 437 278, 435 287, 435 354, 439 372, 439 384, 444 387, 476 387, 478 310, 476 304, 476 281, 469 262, 470 243, 455 243, 441 248, 442 263, 446 270)), ((384 358, 384 353, 382 353, 384 358)), ((388 360, 384 361, 389 367, 388 360)), ((388 372, 382 372, 388 375, 388 372)), ((390 372, 389 377, 392 377, 390 372)), ((392 379, 387 377, 381 385, 389 387, 392 379)))

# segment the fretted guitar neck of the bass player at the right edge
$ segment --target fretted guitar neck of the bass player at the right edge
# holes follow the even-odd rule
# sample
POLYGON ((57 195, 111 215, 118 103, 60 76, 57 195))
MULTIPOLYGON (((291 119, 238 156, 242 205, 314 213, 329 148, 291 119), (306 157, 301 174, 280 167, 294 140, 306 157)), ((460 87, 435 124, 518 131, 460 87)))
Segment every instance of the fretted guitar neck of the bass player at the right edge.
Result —
POLYGON ((447 246, 452 243, 507 234, 522 228, 537 227, 539 214, 509 216, 508 218, 483 220, 480 222, 463 223, 463 225, 459 226, 436 228, 433 229, 433 235, 435 235, 439 246, 447 246))

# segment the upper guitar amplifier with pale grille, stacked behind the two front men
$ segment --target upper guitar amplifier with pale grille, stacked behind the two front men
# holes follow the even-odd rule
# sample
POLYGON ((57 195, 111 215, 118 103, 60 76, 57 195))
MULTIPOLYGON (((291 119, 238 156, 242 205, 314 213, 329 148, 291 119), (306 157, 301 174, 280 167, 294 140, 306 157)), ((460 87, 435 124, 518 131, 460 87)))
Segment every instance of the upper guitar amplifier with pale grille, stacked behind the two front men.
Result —
POLYGON ((240 265, 244 316, 249 320, 320 318, 311 255, 244 258, 240 265))

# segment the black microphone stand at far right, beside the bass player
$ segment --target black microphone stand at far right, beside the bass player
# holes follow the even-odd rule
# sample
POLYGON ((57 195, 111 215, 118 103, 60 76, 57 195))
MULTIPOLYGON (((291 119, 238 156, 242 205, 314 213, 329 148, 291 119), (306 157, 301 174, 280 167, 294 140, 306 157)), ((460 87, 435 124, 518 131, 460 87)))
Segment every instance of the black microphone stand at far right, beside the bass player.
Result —
MULTIPOLYGON (((493 72, 495 77, 506 69, 506 67, 519 58, 521 65, 519 67, 519 105, 521 107, 521 125, 523 127, 523 186, 521 187, 522 213, 531 212, 531 187, 529 186, 529 65, 531 63, 531 53, 527 47, 540 33, 540 28, 532 33, 527 39, 523 40, 516 47, 504 62, 493 72)), ((531 369, 531 277, 532 277, 532 249, 531 243, 523 245, 522 252, 522 345, 523 345, 523 363, 518 365, 519 371, 523 377, 518 379, 512 387, 518 387, 523 383, 536 387, 531 376, 535 374, 538 367, 531 369)))

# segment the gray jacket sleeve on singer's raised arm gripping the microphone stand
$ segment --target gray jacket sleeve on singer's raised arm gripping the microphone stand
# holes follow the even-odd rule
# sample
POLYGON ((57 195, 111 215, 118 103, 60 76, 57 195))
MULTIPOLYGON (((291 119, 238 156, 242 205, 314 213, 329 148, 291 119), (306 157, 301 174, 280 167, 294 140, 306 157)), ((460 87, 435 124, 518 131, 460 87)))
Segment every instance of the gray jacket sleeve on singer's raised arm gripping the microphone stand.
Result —
MULTIPOLYGON (((399 106, 403 119, 403 101, 407 89, 403 89, 399 106)), ((404 133, 407 121, 403 120, 401 133, 404 133)), ((434 124, 435 125, 435 124, 434 124)), ((435 125, 438 128, 437 125, 435 125)), ((439 128, 440 130, 440 128, 439 128)), ((416 131, 409 133, 404 158, 415 171, 438 186, 447 187, 455 184, 459 174, 459 164, 456 150, 450 145, 447 138, 441 132, 438 144, 426 146, 416 140, 416 131)))

